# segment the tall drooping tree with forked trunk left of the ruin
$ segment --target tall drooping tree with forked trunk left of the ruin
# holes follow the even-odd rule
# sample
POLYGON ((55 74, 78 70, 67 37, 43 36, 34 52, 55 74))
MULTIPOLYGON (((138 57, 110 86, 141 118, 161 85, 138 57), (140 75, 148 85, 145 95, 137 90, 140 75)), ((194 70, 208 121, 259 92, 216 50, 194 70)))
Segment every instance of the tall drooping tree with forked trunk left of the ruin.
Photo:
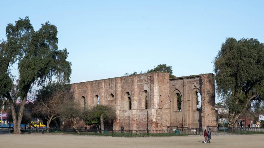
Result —
POLYGON ((34 31, 28 17, 19 19, 15 25, 6 26, 6 40, 0 43, 0 97, 7 99, 11 106, 14 134, 20 134, 27 95, 34 85, 41 86, 54 76, 70 82, 71 63, 68 62, 66 49, 58 50, 56 26, 46 22, 34 31), (11 95, 15 77, 11 67, 18 64, 18 95, 11 95), (15 105, 19 112, 15 113, 15 105))

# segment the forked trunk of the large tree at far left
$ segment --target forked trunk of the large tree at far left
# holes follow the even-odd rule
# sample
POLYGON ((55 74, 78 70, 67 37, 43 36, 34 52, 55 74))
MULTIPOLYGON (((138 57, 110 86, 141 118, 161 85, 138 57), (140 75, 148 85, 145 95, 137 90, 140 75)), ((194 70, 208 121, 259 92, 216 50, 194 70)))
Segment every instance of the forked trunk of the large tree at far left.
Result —
POLYGON ((19 112, 16 115, 15 112, 15 105, 11 104, 11 111, 12 111, 12 118, 13 118, 13 124, 14 124, 14 132, 13 134, 21 134, 21 121, 22 121, 22 117, 23 117, 23 113, 24 113, 24 106, 25 106, 25 102, 27 100, 27 97, 25 96, 22 101, 20 102, 20 108, 19 108, 19 112))

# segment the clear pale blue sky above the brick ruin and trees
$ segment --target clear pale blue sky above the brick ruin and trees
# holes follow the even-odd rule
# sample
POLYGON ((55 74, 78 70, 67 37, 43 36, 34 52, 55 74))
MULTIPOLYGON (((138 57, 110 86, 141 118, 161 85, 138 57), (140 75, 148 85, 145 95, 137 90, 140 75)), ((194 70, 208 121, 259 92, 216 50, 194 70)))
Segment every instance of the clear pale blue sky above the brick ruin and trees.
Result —
POLYGON ((67 48, 71 82, 123 76, 158 64, 175 76, 213 73, 227 37, 264 42, 264 1, 3 1, 5 27, 29 16, 35 30, 50 21, 67 48))

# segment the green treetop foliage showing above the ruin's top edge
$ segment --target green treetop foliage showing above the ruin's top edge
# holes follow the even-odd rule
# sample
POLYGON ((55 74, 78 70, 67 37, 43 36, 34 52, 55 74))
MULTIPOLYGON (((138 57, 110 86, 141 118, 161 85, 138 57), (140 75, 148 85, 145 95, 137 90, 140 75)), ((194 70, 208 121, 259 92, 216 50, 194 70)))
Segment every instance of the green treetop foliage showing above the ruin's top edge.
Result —
POLYGON ((157 67, 154 66, 154 68, 146 71, 146 72, 133 72, 131 74, 129 74, 128 72, 124 74, 124 76, 131 76, 131 75, 137 75, 137 74, 143 74, 143 73, 150 73, 150 72, 167 72, 170 73, 170 78, 175 78, 176 76, 174 76, 172 74, 172 67, 171 66, 167 66, 167 64, 159 64, 157 67))

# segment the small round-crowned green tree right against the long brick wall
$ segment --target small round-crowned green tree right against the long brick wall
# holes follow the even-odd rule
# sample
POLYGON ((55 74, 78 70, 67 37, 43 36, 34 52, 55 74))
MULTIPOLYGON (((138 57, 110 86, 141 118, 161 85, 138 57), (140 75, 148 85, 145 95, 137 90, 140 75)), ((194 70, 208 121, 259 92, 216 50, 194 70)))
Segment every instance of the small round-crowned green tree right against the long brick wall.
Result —
POLYGON ((104 121, 114 120, 116 118, 115 110, 108 106, 97 105, 85 113, 85 124, 100 124, 101 132, 104 131, 104 121))

